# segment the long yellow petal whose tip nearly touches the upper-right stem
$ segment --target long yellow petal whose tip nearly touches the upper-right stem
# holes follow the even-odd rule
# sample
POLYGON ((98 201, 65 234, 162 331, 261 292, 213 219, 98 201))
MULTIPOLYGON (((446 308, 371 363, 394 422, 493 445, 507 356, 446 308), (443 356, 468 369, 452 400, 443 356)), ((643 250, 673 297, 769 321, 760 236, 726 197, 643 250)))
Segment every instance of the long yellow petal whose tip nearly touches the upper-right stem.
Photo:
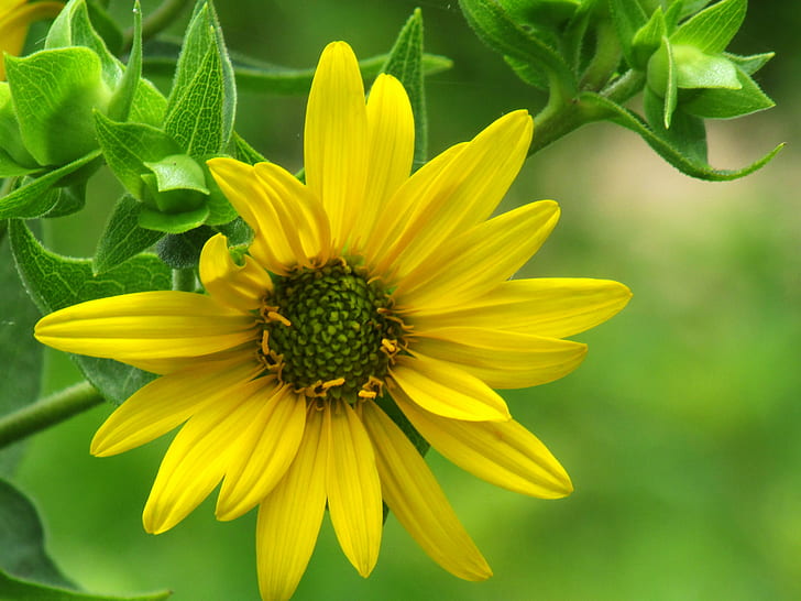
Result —
POLYGON ((495 210, 520 171, 531 131, 528 112, 508 113, 476 135, 442 170, 419 199, 420 210, 395 242, 398 277, 425 266, 446 241, 495 210))

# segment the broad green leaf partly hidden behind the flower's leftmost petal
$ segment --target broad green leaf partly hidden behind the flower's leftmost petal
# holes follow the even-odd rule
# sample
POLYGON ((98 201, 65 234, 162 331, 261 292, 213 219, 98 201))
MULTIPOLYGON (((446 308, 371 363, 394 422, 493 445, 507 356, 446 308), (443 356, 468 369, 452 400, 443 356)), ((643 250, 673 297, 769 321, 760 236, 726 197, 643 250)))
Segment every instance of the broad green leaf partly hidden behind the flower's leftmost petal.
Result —
MULTIPOLYGON (((42 313, 92 298, 169 289, 172 285, 172 272, 152 254, 136 255, 124 265, 95 275, 89 259, 70 259, 46 250, 23 221, 11 221, 9 234, 17 269, 42 313)), ((153 379, 153 374, 110 359, 72 357, 87 380, 116 404, 153 379)))

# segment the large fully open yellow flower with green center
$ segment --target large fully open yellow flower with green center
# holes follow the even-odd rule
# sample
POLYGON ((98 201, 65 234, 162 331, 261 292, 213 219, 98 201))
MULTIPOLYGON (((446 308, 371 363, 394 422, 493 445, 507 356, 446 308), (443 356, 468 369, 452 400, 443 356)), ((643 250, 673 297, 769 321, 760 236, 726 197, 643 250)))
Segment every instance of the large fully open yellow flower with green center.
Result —
POLYGON ((630 294, 602 280, 508 280, 559 212, 546 200, 489 219, 531 130, 525 111, 512 112, 409 176, 403 86, 381 75, 365 106, 353 52, 332 43, 308 102, 305 185, 275 164, 209 161, 255 236, 239 263, 221 234, 206 243, 208 294, 102 298, 39 323, 52 347, 162 374, 91 447, 118 454, 185 423, 144 509, 149 532, 173 527, 222 481, 217 517, 259 505, 261 592, 285 599, 327 505, 345 556, 370 573, 383 499, 445 569, 490 577, 388 413, 494 484, 540 498, 572 491, 493 389, 572 371, 586 349, 562 338, 610 318, 630 294))

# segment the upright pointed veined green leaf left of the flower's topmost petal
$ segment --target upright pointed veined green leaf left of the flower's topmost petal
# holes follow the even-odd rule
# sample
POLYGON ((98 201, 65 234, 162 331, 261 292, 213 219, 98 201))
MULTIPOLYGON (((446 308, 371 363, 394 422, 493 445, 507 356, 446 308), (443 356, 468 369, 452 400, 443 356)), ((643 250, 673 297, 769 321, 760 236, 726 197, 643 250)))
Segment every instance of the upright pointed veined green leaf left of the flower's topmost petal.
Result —
POLYGON ((196 4, 167 101, 164 130, 193 155, 222 152, 233 131, 237 92, 211 6, 196 4))

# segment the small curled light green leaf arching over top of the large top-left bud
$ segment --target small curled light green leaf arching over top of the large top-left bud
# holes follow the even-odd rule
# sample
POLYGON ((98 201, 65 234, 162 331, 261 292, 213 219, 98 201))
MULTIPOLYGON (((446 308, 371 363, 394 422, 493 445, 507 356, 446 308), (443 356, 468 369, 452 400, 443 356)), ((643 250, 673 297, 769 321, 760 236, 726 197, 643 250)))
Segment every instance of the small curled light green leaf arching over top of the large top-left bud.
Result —
POLYGON ((109 89, 114 89, 122 77, 122 64, 109 52, 89 19, 85 0, 74 0, 58 13, 47 33, 46 50, 84 46, 89 48, 102 66, 102 79, 109 89))

